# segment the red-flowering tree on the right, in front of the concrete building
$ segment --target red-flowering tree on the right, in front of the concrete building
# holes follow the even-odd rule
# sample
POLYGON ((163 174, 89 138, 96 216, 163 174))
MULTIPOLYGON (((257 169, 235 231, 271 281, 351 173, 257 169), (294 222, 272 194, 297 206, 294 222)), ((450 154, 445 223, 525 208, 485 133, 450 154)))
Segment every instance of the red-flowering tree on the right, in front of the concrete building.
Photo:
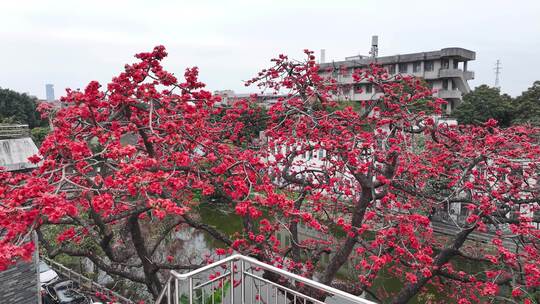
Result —
POLYGON ((406 303, 428 284, 460 303, 497 296, 501 285, 516 299, 538 296, 538 130, 500 129, 493 120, 442 124, 433 115, 444 101, 420 80, 377 66, 353 74, 378 92, 363 111, 339 109, 342 88, 306 53, 303 63, 281 56, 251 81, 288 93, 269 111, 268 167, 279 188, 297 195, 292 202, 267 195, 264 205, 280 218, 268 226, 291 235, 289 268, 312 276, 321 254, 330 253, 321 282, 336 284, 338 269, 352 262, 358 281, 338 286, 392 303, 406 303), (435 233, 435 216, 456 204, 466 220, 450 235, 435 233), (299 223, 324 237, 301 237, 299 223), (488 230, 490 244, 468 241, 488 230), (483 268, 467 272, 455 260, 483 268), (384 271, 403 288, 372 290, 384 271))

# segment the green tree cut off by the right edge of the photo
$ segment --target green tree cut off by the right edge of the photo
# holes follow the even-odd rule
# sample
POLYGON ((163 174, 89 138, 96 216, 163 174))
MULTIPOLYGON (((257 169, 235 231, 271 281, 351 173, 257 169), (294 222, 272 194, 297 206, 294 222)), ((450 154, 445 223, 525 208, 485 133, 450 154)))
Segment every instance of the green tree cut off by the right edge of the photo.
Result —
POLYGON ((513 123, 540 124, 540 81, 514 99, 516 114, 513 123))

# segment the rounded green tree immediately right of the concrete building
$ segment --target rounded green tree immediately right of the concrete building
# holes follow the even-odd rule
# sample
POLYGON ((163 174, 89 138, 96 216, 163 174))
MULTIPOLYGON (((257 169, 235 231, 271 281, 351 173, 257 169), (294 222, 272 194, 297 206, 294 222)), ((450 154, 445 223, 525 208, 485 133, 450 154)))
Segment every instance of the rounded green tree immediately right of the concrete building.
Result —
POLYGON ((463 96, 454 115, 460 124, 481 124, 494 118, 501 126, 508 127, 514 115, 512 97, 484 84, 463 96))

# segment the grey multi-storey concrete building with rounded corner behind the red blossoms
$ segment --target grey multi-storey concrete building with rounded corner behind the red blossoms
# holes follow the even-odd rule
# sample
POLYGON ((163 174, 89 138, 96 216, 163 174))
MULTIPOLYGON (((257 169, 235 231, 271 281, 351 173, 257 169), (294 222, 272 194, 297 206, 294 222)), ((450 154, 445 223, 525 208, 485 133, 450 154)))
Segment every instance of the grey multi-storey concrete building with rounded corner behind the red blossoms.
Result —
POLYGON ((468 81, 474 79, 474 72, 469 71, 467 65, 476 58, 473 51, 444 48, 439 51, 375 57, 377 46, 372 46, 371 54, 372 56, 346 57, 345 60, 336 62, 321 60, 320 74, 336 79, 340 87, 339 96, 352 101, 379 97, 376 88, 370 83, 354 83, 352 78, 354 70, 366 68, 372 63, 383 66, 391 75, 421 77, 435 90, 435 96, 448 101, 446 114, 450 114, 461 103, 462 96, 471 91, 468 81))

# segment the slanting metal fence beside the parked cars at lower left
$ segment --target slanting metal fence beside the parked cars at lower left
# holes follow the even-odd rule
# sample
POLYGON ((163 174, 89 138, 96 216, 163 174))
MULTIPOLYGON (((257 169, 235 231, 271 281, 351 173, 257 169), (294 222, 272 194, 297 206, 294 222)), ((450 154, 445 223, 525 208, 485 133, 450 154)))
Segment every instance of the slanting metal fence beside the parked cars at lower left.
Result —
POLYGON ((107 299, 111 300, 111 302, 114 303, 120 303, 120 304, 134 304, 133 301, 130 299, 122 296, 121 294, 114 292, 97 282, 94 282, 92 279, 87 278, 83 276, 82 274, 71 270, 67 268, 66 266, 51 260, 47 257, 42 257, 43 260, 47 262, 49 266, 51 266, 54 270, 56 270, 58 273, 60 273, 62 276, 68 278, 69 280, 72 280, 74 282, 77 282, 79 286, 87 291, 90 292, 99 292, 103 296, 105 296, 107 299))

